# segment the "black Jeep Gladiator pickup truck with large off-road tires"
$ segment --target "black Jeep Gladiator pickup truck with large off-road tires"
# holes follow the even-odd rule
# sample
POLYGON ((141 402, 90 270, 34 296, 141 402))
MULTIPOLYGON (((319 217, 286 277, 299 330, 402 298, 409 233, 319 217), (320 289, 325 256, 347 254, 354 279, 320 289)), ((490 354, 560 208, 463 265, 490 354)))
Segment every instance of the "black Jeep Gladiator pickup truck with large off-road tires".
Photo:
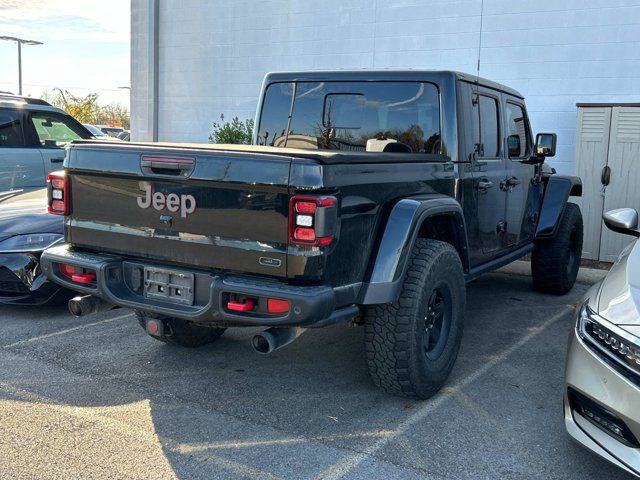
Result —
POLYGON ((531 253, 563 294, 582 251, 576 177, 543 168, 522 95, 446 71, 266 76, 254 145, 78 141, 48 179, 66 244, 42 256, 76 315, 135 310, 167 343, 364 325, 373 381, 427 398, 462 338, 465 282, 531 253))

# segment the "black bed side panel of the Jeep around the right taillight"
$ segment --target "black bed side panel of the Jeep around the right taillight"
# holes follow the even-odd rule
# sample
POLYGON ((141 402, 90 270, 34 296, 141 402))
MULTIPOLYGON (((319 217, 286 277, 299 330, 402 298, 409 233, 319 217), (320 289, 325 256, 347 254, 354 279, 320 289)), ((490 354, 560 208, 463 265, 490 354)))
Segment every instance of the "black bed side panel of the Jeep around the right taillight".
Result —
POLYGON ((292 191, 304 193, 305 189, 314 188, 336 195, 340 226, 338 241, 327 247, 326 256, 308 248, 292 252, 296 255, 289 256, 288 276, 292 279, 322 277, 332 286, 362 282, 369 273, 386 220, 397 201, 428 193, 455 197, 457 170, 444 156, 433 162, 403 162, 401 156, 395 156, 386 162, 329 165, 294 160, 292 191))

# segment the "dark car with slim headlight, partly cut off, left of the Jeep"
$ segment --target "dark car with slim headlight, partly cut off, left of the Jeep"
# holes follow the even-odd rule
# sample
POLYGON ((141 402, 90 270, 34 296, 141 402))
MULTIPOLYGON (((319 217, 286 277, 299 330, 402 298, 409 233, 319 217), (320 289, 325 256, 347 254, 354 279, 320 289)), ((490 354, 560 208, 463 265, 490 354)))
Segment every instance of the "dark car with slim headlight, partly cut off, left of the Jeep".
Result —
POLYGON ((47 213, 46 189, 0 193, 0 303, 41 305, 72 296, 40 271, 40 254, 62 239, 62 225, 47 213))

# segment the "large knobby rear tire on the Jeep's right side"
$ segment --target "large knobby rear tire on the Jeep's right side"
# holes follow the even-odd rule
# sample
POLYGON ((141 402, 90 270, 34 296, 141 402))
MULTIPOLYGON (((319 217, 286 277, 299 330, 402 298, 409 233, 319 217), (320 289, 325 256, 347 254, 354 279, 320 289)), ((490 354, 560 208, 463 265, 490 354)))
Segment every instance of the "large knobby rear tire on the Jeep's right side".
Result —
POLYGON ((458 356, 464 308, 465 282, 456 250, 438 240, 416 240, 399 299, 365 311, 365 355, 373 382, 396 395, 425 399, 437 393, 458 356), (431 351, 436 356, 429 358, 427 316, 440 290, 448 292, 448 329, 439 336, 441 351, 431 351))

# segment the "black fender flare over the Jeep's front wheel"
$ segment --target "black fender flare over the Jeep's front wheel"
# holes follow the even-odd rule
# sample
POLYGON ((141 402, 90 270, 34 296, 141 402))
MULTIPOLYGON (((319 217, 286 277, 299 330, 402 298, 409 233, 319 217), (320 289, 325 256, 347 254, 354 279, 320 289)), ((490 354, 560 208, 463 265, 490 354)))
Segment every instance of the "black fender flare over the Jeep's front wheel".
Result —
POLYGON ((582 196, 582 180, 571 175, 549 177, 544 189, 540 208, 540 218, 535 239, 553 238, 558 228, 558 220, 570 196, 582 196))

